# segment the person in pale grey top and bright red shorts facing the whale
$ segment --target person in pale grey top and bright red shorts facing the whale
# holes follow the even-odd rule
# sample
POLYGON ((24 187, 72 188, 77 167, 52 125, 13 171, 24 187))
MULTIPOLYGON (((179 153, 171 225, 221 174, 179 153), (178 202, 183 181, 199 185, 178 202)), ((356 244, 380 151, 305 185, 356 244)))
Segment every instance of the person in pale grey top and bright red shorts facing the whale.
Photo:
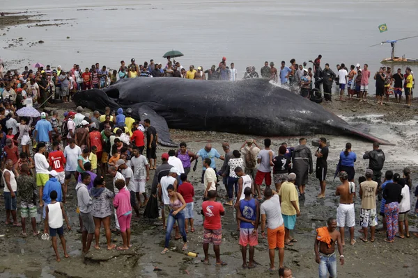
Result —
MULTIPOLYGON (((258 170, 256 173, 256 190, 260 192, 261 184, 265 181, 266 188, 270 188, 272 184, 272 166, 274 151, 270 149, 270 145, 272 145, 272 140, 269 138, 264 139, 264 149, 258 152, 257 155, 257 163, 258 170)), ((261 195, 258 195, 259 198, 261 195)))

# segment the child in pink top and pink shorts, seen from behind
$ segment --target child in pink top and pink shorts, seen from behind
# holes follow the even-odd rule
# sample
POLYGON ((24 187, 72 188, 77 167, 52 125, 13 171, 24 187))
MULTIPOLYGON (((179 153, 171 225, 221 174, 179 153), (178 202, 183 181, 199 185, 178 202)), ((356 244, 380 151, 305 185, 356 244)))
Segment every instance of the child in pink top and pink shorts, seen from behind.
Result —
POLYGON ((115 186, 118 188, 119 193, 115 195, 114 207, 116 208, 116 215, 118 216, 123 240, 123 246, 119 246, 117 250, 128 250, 132 246, 130 245, 130 220, 132 218, 130 192, 125 188, 125 181, 123 179, 116 180, 115 186))

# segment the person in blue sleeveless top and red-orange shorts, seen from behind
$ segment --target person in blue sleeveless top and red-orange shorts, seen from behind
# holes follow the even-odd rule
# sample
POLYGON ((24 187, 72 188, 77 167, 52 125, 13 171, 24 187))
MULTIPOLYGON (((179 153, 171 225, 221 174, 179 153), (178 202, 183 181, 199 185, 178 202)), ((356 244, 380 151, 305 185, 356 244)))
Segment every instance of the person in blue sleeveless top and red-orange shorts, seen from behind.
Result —
MULTIPOLYGON (((241 170, 242 172, 242 170, 241 170)), ((251 178, 250 178, 251 179, 251 178)), ((243 190, 244 199, 238 201, 237 219, 240 220, 240 245, 242 268, 255 268, 254 251, 258 245, 258 223, 260 222, 260 204, 251 198, 251 187, 243 190), (249 245, 249 262, 247 265, 247 245, 249 245)))

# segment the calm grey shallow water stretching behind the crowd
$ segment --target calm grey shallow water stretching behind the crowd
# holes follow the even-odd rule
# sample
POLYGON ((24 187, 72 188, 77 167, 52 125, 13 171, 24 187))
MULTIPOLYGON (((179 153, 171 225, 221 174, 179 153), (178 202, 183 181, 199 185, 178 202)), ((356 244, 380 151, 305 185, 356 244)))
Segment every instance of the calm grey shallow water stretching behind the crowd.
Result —
MULTIPOLYGON (((3 4, 4 11, 22 11, 33 1, 3 0, 3 4)), ((2 49, 1 57, 29 58, 29 63, 65 69, 73 63, 87 67, 96 62, 117 68, 120 60, 128 63, 130 58, 136 58, 137 63, 150 58, 164 63, 162 55, 178 49, 185 54, 179 58, 185 67, 193 64, 207 69, 226 56, 227 63, 235 63, 241 78, 248 65, 259 71, 265 60, 279 67, 281 60, 288 63, 296 58, 301 63, 322 54, 323 64, 330 63, 332 70, 337 63, 348 67, 369 63, 374 72, 380 60, 390 56, 390 47, 369 45, 416 35, 413 28, 405 26, 418 26, 417 7, 417 1, 377 0, 40 0, 29 9, 30 14, 43 14, 42 19, 70 19, 64 21, 68 24, 12 27, 3 36, 1 47, 8 45, 6 40, 20 37, 24 42, 45 43, 2 49), (379 33, 382 23, 389 31, 379 33)), ((397 56, 418 58, 417 42, 418 38, 398 42, 397 56)))

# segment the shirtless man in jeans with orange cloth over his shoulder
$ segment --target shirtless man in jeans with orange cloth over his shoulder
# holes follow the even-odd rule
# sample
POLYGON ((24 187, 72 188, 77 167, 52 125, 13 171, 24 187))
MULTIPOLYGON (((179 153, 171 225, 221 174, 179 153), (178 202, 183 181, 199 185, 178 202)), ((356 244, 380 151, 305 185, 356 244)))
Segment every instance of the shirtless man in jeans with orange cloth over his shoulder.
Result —
POLYGON ((327 225, 328 227, 316 229, 314 251, 315 261, 319 264, 319 278, 326 278, 327 272, 330 273, 330 277, 336 277, 335 242, 338 244, 340 263, 344 264, 341 234, 336 230, 335 218, 328 218, 327 225))

